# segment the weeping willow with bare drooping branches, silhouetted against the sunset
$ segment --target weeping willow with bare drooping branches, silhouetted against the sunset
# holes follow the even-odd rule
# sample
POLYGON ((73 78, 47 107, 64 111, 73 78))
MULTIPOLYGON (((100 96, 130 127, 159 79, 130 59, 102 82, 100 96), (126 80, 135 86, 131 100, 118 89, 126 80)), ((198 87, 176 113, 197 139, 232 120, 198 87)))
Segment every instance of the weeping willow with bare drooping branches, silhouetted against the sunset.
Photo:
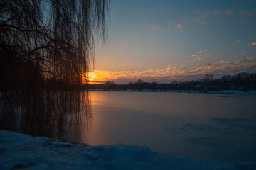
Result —
POLYGON ((108 0, 0 0, 1 130, 79 131, 90 107, 74 87, 87 83, 93 35, 106 42, 108 10, 108 0))

